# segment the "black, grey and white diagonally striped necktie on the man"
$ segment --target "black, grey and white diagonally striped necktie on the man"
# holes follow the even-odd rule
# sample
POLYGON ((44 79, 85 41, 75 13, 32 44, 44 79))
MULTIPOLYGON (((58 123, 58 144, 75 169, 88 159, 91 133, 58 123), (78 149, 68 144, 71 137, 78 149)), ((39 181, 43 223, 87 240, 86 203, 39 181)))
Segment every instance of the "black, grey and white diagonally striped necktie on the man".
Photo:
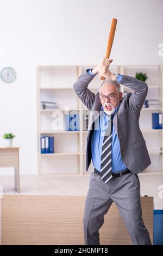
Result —
POLYGON ((101 153, 101 179, 107 184, 112 178, 111 172, 111 146, 112 146, 112 116, 104 135, 102 153, 101 153))

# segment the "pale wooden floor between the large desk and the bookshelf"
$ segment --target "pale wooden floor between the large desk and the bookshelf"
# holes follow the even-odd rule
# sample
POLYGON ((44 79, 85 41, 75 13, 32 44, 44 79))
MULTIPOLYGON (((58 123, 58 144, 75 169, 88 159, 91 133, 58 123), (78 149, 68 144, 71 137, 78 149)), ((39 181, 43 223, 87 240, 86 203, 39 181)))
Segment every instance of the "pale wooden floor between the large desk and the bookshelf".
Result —
MULTIPOLYGON (((163 199, 159 198, 159 186, 163 185, 163 175, 139 175, 141 196, 154 197, 154 209, 163 210, 163 199)), ((23 195, 86 195, 89 188, 89 176, 21 176, 21 194, 23 195)), ((14 189, 14 177, 0 176, 3 194, 18 194, 14 189)))

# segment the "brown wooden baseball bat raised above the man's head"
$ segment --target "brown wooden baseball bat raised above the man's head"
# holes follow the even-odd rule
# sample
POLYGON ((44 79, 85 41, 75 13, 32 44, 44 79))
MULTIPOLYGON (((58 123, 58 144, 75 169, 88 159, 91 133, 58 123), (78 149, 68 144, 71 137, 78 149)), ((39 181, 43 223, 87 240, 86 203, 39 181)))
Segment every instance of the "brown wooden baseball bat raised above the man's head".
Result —
MULTIPOLYGON (((109 58, 109 56, 110 56, 111 47, 112 47, 112 43, 114 40, 114 34, 115 34, 115 30, 116 30, 116 25, 117 25, 117 19, 114 18, 114 19, 112 19, 112 22, 111 22, 109 38, 108 38, 108 45, 107 45, 107 49, 106 49, 106 58, 109 58)), ((100 79, 105 80, 105 77, 101 76, 100 79)))

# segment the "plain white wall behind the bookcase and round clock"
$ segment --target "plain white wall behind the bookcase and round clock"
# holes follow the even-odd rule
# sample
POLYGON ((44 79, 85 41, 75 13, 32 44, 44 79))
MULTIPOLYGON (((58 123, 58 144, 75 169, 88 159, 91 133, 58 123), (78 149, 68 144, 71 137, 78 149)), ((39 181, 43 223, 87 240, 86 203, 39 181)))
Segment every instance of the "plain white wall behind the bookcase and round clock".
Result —
POLYGON ((0 146, 4 132, 16 135, 21 174, 37 174, 36 66, 98 63, 112 17, 112 64, 161 64, 162 10, 162 0, 0 0, 0 69, 17 73, 0 80, 0 146))

